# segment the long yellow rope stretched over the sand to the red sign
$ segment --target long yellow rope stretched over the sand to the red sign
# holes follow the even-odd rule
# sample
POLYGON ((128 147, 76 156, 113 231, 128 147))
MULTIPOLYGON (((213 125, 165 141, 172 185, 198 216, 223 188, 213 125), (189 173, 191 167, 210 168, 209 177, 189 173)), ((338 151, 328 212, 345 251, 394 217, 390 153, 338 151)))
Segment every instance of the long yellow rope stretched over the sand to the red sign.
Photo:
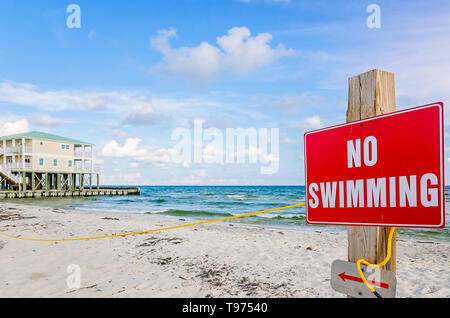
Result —
POLYGON ((9 235, 9 234, 2 233, 2 232, 0 232, 0 234, 4 235, 6 237, 18 239, 18 240, 35 241, 35 242, 69 242, 69 241, 97 240, 97 239, 103 239, 103 238, 122 237, 122 236, 130 236, 130 235, 137 235, 137 234, 145 234, 145 233, 150 233, 150 232, 159 232, 159 231, 165 231, 165 230, 179 229, 179 228, 182 228, 182 227, 188 227, 188 226, 194 226, 194 225, 200 225, 200 224, 206 224, 206 223, 213 223, 213 222, 219 222, 219 221, 226 221, 226 220, 237 219, 237 218, 242 218, 242 217, 246 217, 246 216, 262 214, 262 213, 268 213, 268 212, 274 212, 274 211, 280 211, 280 210, 285 210, 285 209, 296 208, 296 207, 305 206, 305 205, 306 205, 306 203, 299 203, 299 204, 288 205, 288 206, 283 206, 283 207, 280 207, 280 208, 274 208, 274 209, 269 209, 269 210, 264 210, 264 211, 258 211, 258 212, 251 212, 251 213, 245 213, 245 214, 240 214, 240 215, 229 216, 229 217, 221 218, 221 219, 201 221, 201 222, 189 223, 189 224, 183 224, 183 225, 176 225, 176 226, 170 226, 170 227, 154 229, 154 230, 147 230, 147 231, 141 231, 141 232, 132 232, 132 233, 124 233, 124 234, 116 234, 116 235, 105 235, 105 236, 96 236, 96 237, 82 237, 82 238, 70 238, 70 239, 35 239, 35 238, 25 238, 25 237, 9 235))

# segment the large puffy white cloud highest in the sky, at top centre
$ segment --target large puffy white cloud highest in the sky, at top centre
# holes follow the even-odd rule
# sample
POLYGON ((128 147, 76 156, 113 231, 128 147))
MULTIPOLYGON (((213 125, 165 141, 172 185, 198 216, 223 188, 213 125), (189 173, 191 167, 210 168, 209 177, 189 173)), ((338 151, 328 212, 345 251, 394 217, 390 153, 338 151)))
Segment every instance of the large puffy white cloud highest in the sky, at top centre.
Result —
POLYGON ((172 48, 169 39, 175 36, 175 29, 160 30, 151 45, 163 54, 163 67, 170 74, 186 78, 194 85, 205 84, 222 71, 247 73, 279 58, 297 54, 282 44, 272 48, 270 33, 252 36, 246 27, 234 27, 227 35, 217 37, 218 46, 201 42, 195 47, 172 48))

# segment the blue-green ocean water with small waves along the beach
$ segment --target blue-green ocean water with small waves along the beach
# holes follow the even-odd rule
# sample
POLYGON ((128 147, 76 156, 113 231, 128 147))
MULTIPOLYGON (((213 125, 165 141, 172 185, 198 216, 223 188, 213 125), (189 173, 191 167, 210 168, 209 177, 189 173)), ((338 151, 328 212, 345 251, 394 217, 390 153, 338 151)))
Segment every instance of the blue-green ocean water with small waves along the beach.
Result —
MULTIPOLYGON (((304 186, 141 186, 140 196, 13 199, 10 202, 79 211, 166 215, 207 220, 267 210, 305 201, 304 186)), ((446 220, 450 212, 450 187, 445 189, 446 220)), ((306 224, 305 208, 297 207, 226 222, 266 227, 308 227, 345 230, 345 226, 306 224)), ((448 223, 448 222, 447 222, 448 223)), ((450 242, 444 229, 399 229, 400 235, 450 242)))

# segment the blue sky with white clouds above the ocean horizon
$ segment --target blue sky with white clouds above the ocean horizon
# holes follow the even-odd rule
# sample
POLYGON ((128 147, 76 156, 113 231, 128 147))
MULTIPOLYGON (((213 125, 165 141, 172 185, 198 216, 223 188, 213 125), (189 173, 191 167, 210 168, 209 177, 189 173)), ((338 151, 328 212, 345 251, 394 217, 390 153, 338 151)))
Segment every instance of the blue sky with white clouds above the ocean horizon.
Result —
POLYGON ((394 72, 397 109, 450 102, 449 20, 439 0, 3 0, 0 133, 94 142, 109 184, 303 184, 303 133, 345 121, 349 77, 394 72), (279 128, 278 172, 173 163, 172 132, 196 119, 279 128))

